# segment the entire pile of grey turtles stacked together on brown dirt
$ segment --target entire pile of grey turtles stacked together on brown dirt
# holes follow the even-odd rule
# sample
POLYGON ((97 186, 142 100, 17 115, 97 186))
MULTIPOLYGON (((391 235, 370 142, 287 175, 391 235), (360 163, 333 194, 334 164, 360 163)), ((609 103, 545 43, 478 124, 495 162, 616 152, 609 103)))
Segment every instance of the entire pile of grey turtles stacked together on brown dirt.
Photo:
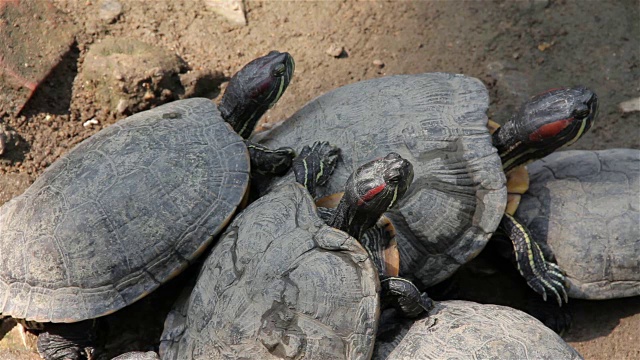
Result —
POLYGON ((558 153, 525 193, 523 165, 588 131, 588 89, 538 95, 497 127, 477 79, 385 77, 248 140, 293 71, 274 51, 219 106, 122 120, 0 208, 0 313, 38 334, 42 357, 158 358, 107 351, 96 328, 188 267, 150 344, 162 359, 580 358, 519 310, 429 298, 488 243, 508 245, 501 259, 541 302, 640 293, 637 152, 558 153))

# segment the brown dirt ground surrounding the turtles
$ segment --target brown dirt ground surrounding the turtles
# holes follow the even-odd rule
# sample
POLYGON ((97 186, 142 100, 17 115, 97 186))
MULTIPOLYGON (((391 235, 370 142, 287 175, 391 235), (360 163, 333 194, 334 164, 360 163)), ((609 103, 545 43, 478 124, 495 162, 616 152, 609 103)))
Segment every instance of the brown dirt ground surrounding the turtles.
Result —
MULTIPOLYGON (((76 42, 19 116, 0 109, 0 123, 20 140, 0 157, 0 204, 122 117, 96 105, 76 78, 87 51, 107 36, 162 46, 194 71, 227 77, 272 49, 290 52, 294 80, 267 122, 284 120, 341 85, 445 71, 483 80, 492 98, 489 115, 498 122, 537 92, 588 86, 599 96, 599 116, 573 148, 640 148, 640 112, 618 108, 640 96, 637 0, 248 1, 244 27, 229 25, 196 0, 120 0, 121 13, 105 21, 100 8, 106 1, 52 0, 75 25, 76 42), (329 55, 332 47, 343 47, 343 56, 329 55), (90 119, 98 124, 83 126, 90 119)), ((640 298, 569 306, 574 324, 565 338, 585 358, 640 358, 640 298)), ((19 356, 0 352, 0 359, 19 356)))

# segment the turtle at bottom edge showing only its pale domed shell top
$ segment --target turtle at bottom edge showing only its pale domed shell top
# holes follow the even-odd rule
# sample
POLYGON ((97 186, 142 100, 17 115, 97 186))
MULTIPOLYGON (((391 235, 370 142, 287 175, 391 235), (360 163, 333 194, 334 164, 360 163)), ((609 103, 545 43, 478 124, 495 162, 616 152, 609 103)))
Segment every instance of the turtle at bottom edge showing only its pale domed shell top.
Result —
POLYGON ((582 359, 538 320, 507 306, 439 301, 418 320, 394 312, 381 316, 374 360, 582 359))

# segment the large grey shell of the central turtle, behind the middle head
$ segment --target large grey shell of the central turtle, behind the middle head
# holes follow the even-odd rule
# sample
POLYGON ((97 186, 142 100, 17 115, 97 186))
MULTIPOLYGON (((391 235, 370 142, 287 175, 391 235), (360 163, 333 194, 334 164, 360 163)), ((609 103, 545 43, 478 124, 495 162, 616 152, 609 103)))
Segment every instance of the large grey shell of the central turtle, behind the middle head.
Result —
POLYGON ((329 141, 342 150, 319 196, 341 191, 355 168, 397 152, 413 185, 386 215, 398 233, 400 276, 424 288, 477 255, 504 213, 506 179, 491 144, 489 95, 478 79, 427 73, 347 85, 261 135, 270 147, 329 141))

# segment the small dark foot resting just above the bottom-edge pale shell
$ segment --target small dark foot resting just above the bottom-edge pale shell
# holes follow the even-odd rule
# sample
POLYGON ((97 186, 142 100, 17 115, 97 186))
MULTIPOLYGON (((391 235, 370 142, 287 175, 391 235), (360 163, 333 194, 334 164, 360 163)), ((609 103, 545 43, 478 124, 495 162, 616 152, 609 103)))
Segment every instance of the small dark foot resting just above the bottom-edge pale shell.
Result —
POLYGON ((427 293, 420 293, 407 279, 381 276, 380 287, 382 308, 394 307, 404 317, 416 318, 433 307, 433 301, 427 293))

